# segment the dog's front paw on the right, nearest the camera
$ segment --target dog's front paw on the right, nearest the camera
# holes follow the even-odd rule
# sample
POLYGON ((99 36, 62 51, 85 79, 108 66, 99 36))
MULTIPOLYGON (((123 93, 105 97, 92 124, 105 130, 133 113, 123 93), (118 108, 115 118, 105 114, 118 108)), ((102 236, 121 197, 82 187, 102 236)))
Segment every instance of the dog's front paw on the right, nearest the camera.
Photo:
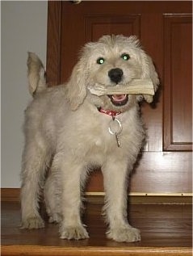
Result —
POLYGON ((110 229, 107 232, 107 237, 115 241, 141 241, 141 234, 139 229, 132 228, 130 226, 123 228, 110 229))

